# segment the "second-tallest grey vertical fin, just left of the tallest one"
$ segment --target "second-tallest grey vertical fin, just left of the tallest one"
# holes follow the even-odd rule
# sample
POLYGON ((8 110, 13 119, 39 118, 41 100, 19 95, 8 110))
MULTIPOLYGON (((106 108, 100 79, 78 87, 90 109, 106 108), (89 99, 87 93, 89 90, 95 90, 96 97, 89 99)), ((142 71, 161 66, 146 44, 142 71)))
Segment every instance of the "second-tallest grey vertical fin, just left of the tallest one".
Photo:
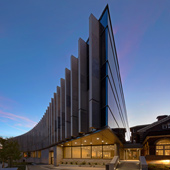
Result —
POLYGON ((78 41, 79 133, 86 133, 89 130, 87 57, 87 44, 80 38, 78 41))

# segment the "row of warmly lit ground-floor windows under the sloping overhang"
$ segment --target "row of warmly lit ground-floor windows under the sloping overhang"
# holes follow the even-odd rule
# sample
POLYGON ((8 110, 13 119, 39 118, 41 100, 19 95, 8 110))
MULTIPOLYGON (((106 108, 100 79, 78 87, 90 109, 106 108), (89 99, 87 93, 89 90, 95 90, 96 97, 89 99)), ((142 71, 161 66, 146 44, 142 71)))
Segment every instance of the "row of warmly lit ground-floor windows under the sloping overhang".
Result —
POLYGON ((64 147, 64 158, 112 159, 114 145, 64 147))

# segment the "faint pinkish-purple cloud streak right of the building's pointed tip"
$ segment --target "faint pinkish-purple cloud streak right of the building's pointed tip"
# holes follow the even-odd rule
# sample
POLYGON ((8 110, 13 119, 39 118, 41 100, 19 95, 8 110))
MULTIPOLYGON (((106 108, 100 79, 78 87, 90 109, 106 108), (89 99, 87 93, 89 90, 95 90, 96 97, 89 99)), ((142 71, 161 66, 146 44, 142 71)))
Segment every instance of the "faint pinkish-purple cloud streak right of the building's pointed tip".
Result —
MULTIPOLYGON (((134 7, 135 9, 135 7, 134 7)), ((127 20, 120 20, 117 23, 116 36, 119 38, 119 46, 117 48, 119 62, 121 67, 121 76, 124 80, 129 71, 133 68, 135 59, 135 51, 139 48, 148 29, 150 29, 159 19, 164 11, 164 6, 153 6, 148 9, 146 6, 141 6, 141 9, 136 9, 133 14, 127 16, 125 12, 122 14, 123 18, 131 18, 127 20), (138 11, 136 11, 138 10, 138 11), (146 11, 146 12, 144 12, 146 11)))

